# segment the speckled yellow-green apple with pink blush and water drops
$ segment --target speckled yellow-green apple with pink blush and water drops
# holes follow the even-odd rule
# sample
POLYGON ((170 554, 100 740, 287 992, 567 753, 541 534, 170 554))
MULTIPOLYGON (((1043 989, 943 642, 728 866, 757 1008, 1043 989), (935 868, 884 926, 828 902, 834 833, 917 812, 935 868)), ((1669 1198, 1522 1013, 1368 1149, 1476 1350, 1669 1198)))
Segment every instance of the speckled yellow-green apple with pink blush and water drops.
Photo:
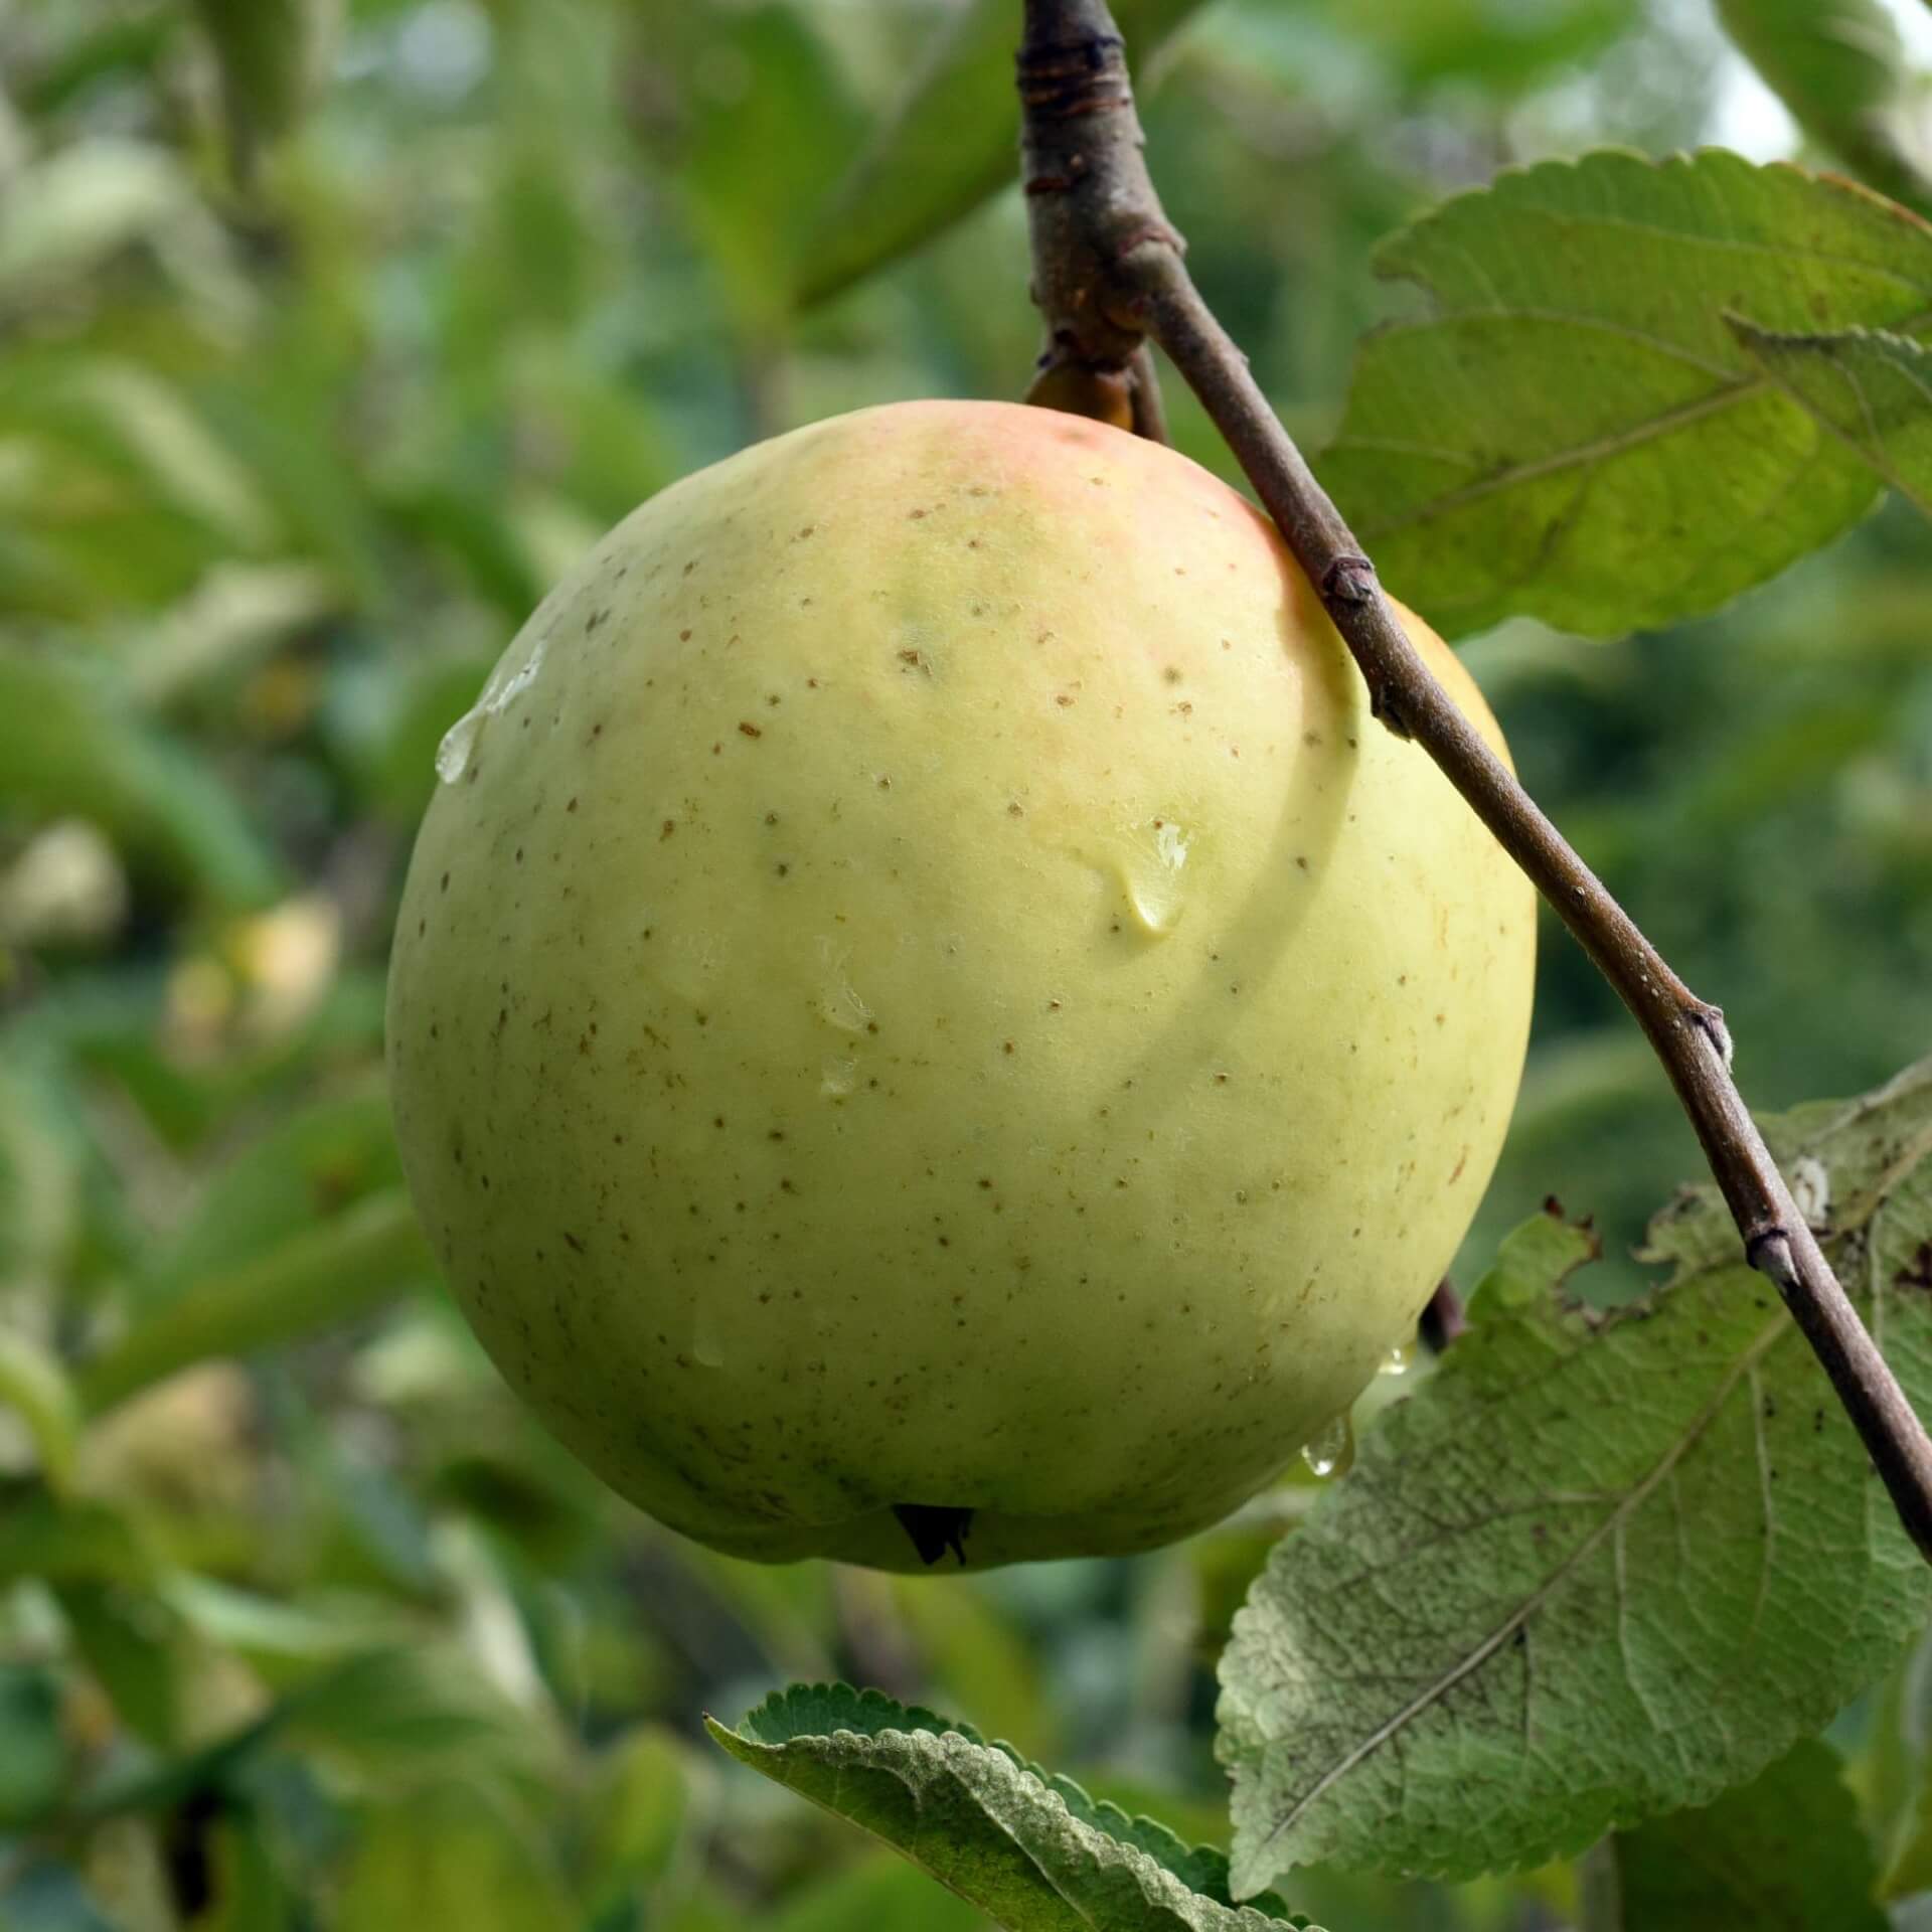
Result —
POLYGON ((699 1542, 1171 1542, 1476 1211, 1532 891, 1169 448, 916 402, 744 450, 558 585, 442 769, 410 1186, 510 1383, 699 1542))

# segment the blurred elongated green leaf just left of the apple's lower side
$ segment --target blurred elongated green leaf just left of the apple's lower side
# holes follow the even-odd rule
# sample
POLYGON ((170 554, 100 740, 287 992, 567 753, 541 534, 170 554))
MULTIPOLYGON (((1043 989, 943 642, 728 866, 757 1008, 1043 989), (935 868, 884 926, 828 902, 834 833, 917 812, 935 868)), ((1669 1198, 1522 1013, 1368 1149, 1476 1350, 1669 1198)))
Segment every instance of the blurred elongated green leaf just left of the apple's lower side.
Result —
POLYGON ((197 1281, 81 1372, 93 1414, 211 1356, 245 1356, 359 1320, 435 1279, 429 1244, 402 1188, 357 1202, 321 1227, 197 1281))

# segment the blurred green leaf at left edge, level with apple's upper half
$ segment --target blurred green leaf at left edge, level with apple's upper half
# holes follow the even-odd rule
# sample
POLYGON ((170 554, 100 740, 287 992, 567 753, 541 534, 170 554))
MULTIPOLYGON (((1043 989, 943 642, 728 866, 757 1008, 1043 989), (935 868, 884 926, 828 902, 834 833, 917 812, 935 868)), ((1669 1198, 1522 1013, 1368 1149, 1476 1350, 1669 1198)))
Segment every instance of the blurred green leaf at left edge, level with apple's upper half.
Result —
POLYGON ((0 806, 104 827, 224 906, 263 906, 280 867, 234 794, 100 680, 0 649, 0 806))

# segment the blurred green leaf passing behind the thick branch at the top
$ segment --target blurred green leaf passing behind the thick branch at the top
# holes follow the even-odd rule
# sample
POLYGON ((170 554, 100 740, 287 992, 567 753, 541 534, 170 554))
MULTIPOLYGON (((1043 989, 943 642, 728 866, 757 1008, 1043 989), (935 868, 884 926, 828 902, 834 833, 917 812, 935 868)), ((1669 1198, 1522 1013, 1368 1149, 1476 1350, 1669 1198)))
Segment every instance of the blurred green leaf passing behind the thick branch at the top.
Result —
MULTIPOLYGON (((1119 0, 1136 79, 1200 0, 1119 0)), ((796 299, 825 301, 929 242, 1018 176, 1020 10, 966 0, 811 224, 796 299)))

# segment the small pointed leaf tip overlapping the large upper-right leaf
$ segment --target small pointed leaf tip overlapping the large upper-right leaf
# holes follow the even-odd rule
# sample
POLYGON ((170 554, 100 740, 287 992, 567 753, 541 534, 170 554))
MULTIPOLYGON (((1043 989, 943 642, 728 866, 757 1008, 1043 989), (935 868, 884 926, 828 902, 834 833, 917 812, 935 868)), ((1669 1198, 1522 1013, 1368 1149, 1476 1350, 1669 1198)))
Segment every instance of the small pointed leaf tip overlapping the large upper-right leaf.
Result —
POLYGON ((1932 350, 1868 328, 1779 336, 1748 323, 1731 327, 1795 404, 1932 516, 1932 350))

